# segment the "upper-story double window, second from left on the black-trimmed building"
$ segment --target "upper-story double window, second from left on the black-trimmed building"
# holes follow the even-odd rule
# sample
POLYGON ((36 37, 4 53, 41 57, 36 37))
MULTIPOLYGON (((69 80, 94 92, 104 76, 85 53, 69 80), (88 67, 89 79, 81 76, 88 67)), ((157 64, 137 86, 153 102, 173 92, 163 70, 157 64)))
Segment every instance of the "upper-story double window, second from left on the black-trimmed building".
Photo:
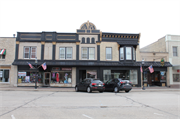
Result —
POLYGON ((71 47, 60 47, 60 59, 72 59, 72 48, 71 47))

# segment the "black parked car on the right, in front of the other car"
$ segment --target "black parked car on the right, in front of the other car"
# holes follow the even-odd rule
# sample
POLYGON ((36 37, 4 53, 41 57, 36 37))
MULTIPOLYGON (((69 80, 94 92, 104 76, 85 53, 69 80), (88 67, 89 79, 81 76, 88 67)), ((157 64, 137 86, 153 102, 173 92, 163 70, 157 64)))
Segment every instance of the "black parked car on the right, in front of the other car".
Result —
POLYGON ((119 92, 124 90, 128 93, 132 89, 132 83, 129 80, 118 78, 111 79, 105 83, 105 91, 119 92))

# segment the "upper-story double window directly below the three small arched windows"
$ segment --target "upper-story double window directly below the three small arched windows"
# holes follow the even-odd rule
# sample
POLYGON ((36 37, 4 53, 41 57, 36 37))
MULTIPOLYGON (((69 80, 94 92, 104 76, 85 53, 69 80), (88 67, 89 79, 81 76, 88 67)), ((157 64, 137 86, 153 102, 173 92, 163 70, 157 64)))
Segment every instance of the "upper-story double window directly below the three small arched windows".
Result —
POLYGON ((95 48, 91 47, 82 47, 81 49, 81 57, 82 59, 95 59, 95 48))

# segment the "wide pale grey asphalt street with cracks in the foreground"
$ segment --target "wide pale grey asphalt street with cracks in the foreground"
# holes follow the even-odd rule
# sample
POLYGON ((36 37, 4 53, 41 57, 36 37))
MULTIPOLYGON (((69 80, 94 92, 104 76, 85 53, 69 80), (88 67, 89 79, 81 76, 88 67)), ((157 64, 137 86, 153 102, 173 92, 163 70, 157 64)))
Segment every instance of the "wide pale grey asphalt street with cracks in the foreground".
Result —
POLYGON ((0 91, 0 119, 180 119, 180 92, 0 91))

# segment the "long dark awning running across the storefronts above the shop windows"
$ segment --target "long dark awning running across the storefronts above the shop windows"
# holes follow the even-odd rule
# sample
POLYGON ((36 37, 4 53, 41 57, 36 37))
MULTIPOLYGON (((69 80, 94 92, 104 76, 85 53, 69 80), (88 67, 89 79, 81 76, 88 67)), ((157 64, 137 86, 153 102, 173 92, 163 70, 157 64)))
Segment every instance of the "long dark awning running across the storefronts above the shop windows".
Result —
MULTIPOLYGON (((12 65, 28 65, 27 62, 30 62, 32 65, 35 65, 34 61, 26 61, 26 60, 16 60, 13 62, 12 65)), ((132 63, 124 63, 124 62, 108 62, 108 61, 50 61, 50 60, 44 60, 44 61, 38 61, 38 65, 41 65, 43 62, 46 62, 47 66, 133 66, 133 67, 140 67, 142 65, 141 62, 132 62, 132 63)), ((150 66, 153 67, 172 67, 170 62, 165 62, 164 66, 161 66, 160 62, 145 62, 144 66, 150 66)))

